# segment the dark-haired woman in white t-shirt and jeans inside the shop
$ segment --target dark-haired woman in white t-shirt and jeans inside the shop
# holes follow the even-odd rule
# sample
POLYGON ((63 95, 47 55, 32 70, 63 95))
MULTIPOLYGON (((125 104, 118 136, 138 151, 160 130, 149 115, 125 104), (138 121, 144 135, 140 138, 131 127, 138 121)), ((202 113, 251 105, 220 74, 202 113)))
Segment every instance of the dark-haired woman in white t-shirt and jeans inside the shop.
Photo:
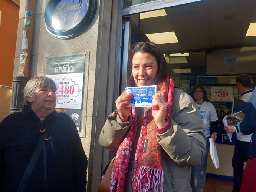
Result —
POLYGON ((199 114, 203 120, 206 136, 206 154, 200 165, 194 166, 191 169, 191 186, 193 192, 204 192, 205 180, 206 180, 206 167, 207 156, 210 148, 209 139, 213 138, 213 141, 217 139, 218 129, 218 117, 216 109, 207 99, 207 94, 203 86, 197 85, 193 87, 191 91, 191 97, 197 104, 199 114))

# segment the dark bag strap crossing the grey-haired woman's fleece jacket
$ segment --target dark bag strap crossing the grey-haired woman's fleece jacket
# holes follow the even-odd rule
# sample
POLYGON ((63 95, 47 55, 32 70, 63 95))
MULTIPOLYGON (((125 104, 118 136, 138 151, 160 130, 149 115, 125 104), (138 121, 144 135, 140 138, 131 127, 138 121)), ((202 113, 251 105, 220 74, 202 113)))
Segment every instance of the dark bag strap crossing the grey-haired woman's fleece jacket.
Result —
POLYGON ((40 155, 40 152, 43 148, 43 144, 45 143, 45 138, 49 132, 49 129, 46 129, 45 132, 43 132, 42 136, 39 139, 39 142, 37 143, 36 149, 29 161, 29 164, 27 165, 26 171, 24 172, 24 175, 22 177, 22 180, 20 181, 20 185, 23 185, 30 177, 31 172, 34 169, 34 166, 37 162, 37 159, 40 155))

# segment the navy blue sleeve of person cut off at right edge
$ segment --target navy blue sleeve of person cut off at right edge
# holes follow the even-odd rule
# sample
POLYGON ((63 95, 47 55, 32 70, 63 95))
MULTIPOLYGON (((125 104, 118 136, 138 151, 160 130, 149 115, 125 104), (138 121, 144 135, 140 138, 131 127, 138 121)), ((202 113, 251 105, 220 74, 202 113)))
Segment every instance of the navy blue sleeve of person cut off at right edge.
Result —
POLYGON ((256 89, 253 90, 253 93, 247 103, 244 119, 238 123, 239 130, 244 135, 250 135, 251 133, 255 132, 256 130, 255 114, 256 114, 256 89))

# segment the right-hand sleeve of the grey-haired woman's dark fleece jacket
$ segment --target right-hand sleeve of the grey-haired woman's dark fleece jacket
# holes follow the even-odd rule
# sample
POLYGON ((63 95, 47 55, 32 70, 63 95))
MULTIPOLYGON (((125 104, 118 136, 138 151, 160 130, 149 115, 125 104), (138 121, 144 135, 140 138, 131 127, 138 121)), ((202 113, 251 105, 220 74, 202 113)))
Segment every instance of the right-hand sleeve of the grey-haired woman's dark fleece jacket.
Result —
MULTIPOLYGON (((71 119, 70 119, 71 120, 71 119)), ((72 120, 71 120, 72 121, 72 120)), ((73 142, 72 142, 72 164, 76 191, 86 191, 87 177, 87 156, 83 150, 81 139, 78 135, 75 123, 72 121, 73 142)))

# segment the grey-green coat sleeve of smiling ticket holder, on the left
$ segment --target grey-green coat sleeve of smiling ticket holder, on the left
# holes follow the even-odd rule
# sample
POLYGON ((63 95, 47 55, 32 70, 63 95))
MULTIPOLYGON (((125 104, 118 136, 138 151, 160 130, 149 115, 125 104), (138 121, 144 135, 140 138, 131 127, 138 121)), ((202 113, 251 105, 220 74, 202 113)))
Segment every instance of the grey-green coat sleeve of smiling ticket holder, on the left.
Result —
POLYGON ((99 135, 99 145, 116 152, 131 126, 132 120, 129 119, 129 122, 122 122, 117 110, 111 113, 99 135))

